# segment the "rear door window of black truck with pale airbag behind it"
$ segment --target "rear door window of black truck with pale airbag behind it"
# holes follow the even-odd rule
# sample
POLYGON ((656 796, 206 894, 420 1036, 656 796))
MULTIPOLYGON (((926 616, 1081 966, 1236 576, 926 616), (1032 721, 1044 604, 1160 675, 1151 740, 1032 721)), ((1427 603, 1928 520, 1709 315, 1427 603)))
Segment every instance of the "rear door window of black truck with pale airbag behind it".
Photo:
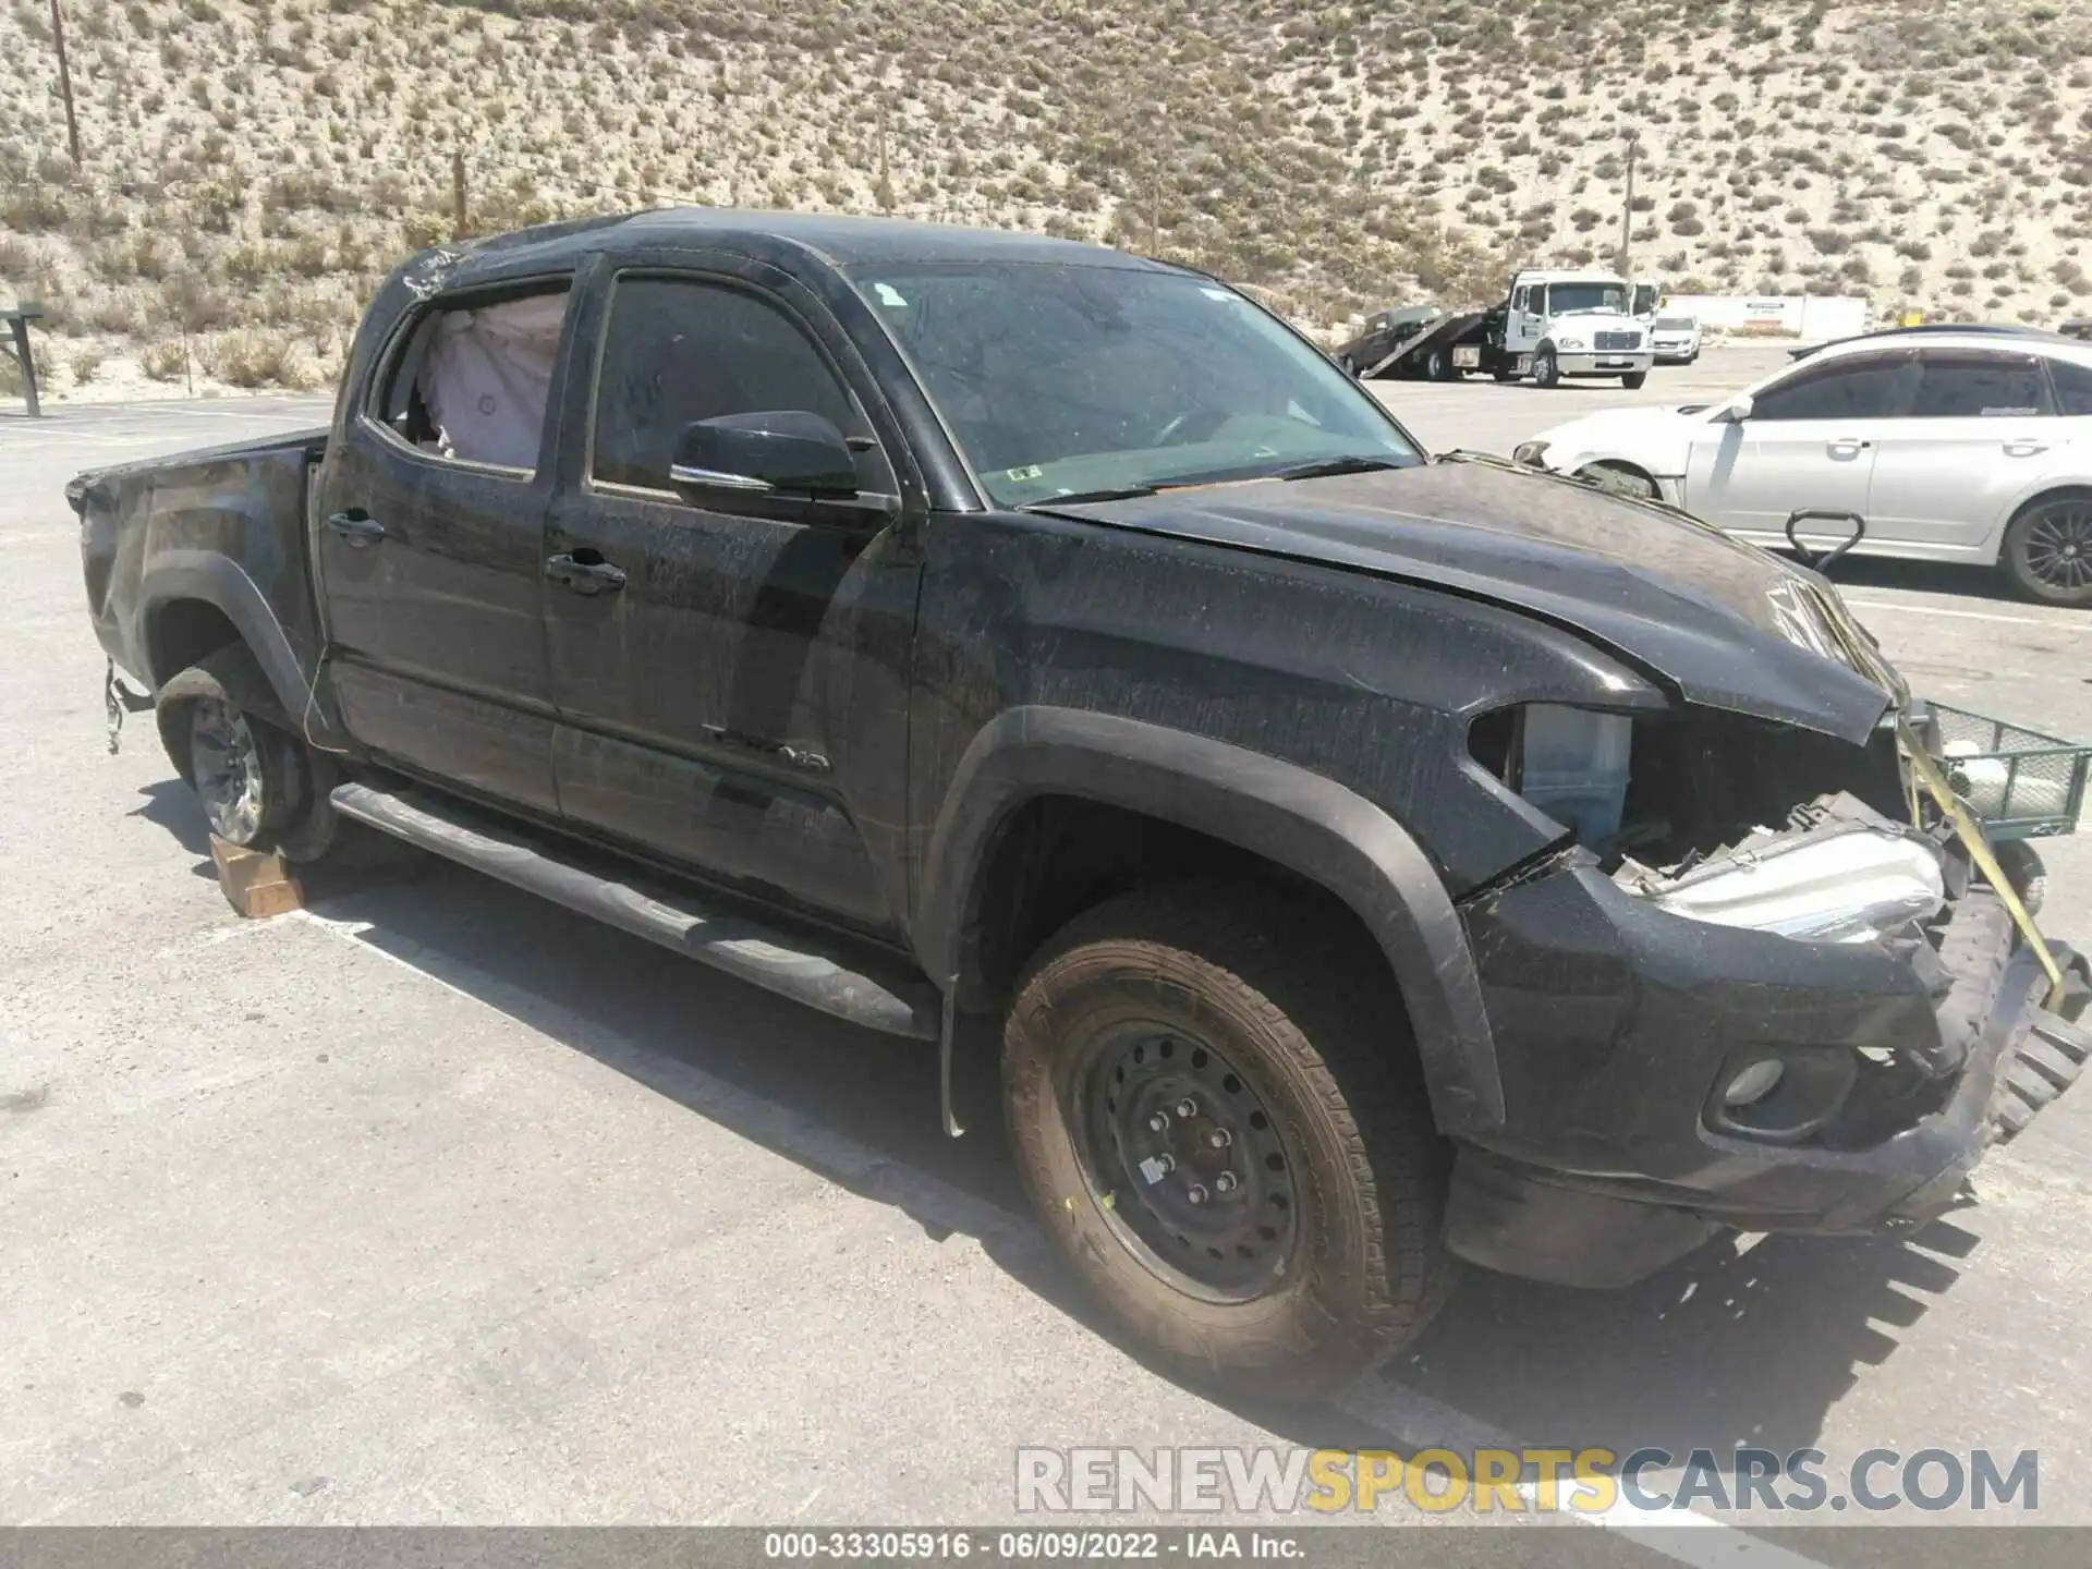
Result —
POLYGON ((431 456, 533 473, 567 293, 437 305, 387 366, 377 418, 431 456))

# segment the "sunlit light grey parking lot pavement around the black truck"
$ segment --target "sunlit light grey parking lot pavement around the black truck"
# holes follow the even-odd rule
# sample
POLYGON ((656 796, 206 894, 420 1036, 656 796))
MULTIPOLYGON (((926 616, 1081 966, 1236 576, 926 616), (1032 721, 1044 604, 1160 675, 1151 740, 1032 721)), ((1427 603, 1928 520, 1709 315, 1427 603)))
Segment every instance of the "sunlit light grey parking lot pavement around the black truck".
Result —
MULTIPOLYGON (((1506 452, 1770 364, 1374 391, 1506 452)), ((1916 1238, 1724 1241, 1621 1293, 1473 1272, 1337 1406, 1228 1408, 1086 1322, 994 1123, 946 1140, 908 1044, 450 868, 238 920, 149 720, 109 755, 61 485, 324 418, 0 412, 0 1521, 990 1523, 1019 1446, 1508 1441, 2036 1450, 2038 1519, 2092 1523, 2092 1090, 1916 1238)), ((2092 738, 2092 615, 1841 582, 1918 690, 2092 738)), ((2050 868, 2046 925, 2092 939, 2086 841, 2050 868)))

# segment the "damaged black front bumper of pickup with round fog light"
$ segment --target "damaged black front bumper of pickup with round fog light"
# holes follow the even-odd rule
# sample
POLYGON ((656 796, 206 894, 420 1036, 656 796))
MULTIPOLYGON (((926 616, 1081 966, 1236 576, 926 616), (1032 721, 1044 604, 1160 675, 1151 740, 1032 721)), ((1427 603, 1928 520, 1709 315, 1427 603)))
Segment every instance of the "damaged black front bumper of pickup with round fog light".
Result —
POLYGON ((1761 893, 1575 851, 1466 912, 1506 1123, 1460 1146, 1454 1253, 1617 1287, 1720 1228, 1916 1226, 2061 1094, 2092 1056, 2086 962, 2048 943, 2059 992, 1966 864, 1927 897, 1923 864, 1860 839, 1768 837, 1761 893), (1854 872, 1843 927, 1812 874, 1830 864, 1854 872))

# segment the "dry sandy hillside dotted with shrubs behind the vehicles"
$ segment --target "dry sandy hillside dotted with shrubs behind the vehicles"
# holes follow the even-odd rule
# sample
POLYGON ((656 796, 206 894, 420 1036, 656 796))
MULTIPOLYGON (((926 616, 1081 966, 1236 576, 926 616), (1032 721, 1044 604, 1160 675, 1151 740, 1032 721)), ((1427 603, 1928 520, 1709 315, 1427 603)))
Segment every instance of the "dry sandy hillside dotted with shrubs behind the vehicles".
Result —
POLYGON ((0 303, 61 391, 324 381, 458 176, 471 230, 883 209, 1341 331, 1611 259, 1636 138, 1674 291, 2092 312, 2092 0, 63 0, 77 167, 50 0, 0 4, 0 303))

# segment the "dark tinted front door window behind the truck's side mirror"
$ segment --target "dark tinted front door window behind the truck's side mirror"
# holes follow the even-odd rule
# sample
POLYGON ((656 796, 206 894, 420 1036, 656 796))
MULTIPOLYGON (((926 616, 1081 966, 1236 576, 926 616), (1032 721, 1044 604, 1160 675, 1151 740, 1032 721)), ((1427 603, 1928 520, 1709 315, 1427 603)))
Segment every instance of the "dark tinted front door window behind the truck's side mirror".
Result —
POLYGON ((720 414, 805 410, 862 429, 847 389, 780 308, 695 278, 619 278, 596 383, 592 475, 672 490, 686 427, 720 414))

